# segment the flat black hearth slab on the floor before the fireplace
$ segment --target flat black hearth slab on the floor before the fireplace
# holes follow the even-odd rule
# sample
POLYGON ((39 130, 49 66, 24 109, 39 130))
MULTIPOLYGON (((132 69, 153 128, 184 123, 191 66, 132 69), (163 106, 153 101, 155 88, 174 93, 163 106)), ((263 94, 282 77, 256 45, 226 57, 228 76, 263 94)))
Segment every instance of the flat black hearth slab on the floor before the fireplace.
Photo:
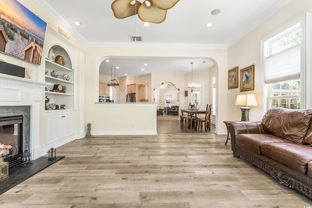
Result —
POLYGON ((10 168, 9 175, 0 180, 0 195, 63 158, 64 156, 57 156, 55 160, 48 160, 48 157, 39 157, 31 161, 31 166, 16 165, 10 168))

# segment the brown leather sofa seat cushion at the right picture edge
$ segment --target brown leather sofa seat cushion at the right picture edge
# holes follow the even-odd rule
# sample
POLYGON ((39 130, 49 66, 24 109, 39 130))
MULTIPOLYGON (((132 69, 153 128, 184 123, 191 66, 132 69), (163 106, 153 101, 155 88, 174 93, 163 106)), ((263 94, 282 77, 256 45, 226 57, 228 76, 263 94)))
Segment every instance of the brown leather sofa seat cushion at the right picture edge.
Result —
POLYGON ((307 173, 312 161, 312 147, 300 144, 266 143, 261 145, 261 153, 300 173, 307 173))

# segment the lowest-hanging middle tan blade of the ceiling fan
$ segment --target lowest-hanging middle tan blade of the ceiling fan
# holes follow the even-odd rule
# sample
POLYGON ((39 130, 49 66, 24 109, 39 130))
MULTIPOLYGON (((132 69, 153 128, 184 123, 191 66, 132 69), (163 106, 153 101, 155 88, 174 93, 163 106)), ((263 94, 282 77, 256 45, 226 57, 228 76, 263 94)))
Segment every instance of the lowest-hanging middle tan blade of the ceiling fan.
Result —
POLYGON ((153 2, 148 7, 143 3, 137 11, 137 16, 142 21, 161 23, 166 19, 167 10, 159 9, 156 7, 153 2))

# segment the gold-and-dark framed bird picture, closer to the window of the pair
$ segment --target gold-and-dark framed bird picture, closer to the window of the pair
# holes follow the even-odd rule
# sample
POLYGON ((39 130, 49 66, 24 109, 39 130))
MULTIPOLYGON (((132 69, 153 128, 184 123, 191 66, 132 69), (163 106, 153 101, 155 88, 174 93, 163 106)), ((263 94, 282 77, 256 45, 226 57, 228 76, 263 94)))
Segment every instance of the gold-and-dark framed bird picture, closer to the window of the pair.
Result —
POLYGON ((254 65, 240 70, 240 92, 254 90, 254 65))

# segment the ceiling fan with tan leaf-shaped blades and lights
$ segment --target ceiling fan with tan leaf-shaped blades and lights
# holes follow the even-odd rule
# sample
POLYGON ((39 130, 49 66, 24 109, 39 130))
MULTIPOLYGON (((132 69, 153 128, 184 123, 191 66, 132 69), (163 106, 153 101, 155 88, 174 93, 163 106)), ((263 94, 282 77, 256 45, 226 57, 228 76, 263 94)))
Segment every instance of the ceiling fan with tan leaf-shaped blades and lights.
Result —
POLYGON ((118 19, 138 16, 145 22, 161 23, 166 19, 167 10, 179 0, 114 0, 112 10, 118 19))

